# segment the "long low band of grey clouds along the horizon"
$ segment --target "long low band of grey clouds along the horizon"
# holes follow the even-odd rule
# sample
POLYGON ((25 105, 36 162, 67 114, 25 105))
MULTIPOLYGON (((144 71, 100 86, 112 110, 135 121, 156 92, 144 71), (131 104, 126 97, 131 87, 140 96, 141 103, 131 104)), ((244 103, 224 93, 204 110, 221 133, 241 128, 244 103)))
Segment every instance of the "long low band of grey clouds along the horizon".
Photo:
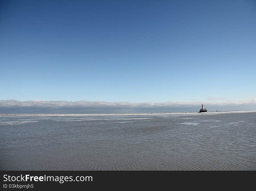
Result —
MULTIPOLYGON (((256 110, 256 99, 203 102, 208 111, 256 110)), ((104 101, 17 101, 0 100, 0 113, 159 113, 199 111, 202 102, 130 103, 104 101)))

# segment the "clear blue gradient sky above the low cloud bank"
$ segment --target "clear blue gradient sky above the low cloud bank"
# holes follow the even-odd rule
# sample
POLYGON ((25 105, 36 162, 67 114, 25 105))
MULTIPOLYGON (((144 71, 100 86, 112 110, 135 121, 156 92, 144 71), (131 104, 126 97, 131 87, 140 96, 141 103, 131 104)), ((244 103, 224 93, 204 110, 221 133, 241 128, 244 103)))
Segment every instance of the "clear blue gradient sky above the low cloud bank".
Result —
POLYGON ((256 3, 2 0, 0 70, 0 100, 251 100, 256 3))

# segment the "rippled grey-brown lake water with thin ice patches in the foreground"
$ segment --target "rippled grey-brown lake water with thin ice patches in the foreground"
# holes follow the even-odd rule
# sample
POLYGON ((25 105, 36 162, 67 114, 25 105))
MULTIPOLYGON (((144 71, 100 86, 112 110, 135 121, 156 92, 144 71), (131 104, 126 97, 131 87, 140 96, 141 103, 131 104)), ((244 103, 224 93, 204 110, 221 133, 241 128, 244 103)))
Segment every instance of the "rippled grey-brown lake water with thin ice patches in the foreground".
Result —
POLYGON ((256 113, 0 116, 1 170, 256 170, 256 113))

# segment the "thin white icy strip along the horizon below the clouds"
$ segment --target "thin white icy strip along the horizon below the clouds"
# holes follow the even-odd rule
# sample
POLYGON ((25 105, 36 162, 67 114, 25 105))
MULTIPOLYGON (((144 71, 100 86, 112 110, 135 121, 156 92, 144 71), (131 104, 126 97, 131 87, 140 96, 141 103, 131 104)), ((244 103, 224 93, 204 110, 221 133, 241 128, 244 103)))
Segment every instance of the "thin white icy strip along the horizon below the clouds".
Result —
MULTIPOLYGON (((252 113, 256 110, 241 111, 209 111, 207 113, 252 113)), ((101 113, 101 114, 0 114, 0 116, 106 116, 106 115, 169 115, 169 114, 207 114, 199 112, 171 112, 171 113, 101 113)))

